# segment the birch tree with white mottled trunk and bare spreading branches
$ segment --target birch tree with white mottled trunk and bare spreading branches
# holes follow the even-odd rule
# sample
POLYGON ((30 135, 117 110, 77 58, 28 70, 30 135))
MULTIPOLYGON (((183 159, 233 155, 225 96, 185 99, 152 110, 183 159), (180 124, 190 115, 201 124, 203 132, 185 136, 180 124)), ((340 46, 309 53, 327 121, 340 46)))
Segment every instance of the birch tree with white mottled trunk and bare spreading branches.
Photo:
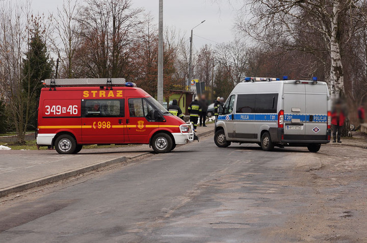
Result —
POLYGON ((350 40, 343 35, 342 26, 344 32, 350 32, 348 28, 351 26, 345 19, 354 17, 351 16, 351 9, 358 8, 359 2, 252 0, 250 12, 253 18, 249 20, 248 15, 240 15, 237 28, 270 46, 315 55, 324 52, 328 60, 320 61, 329 66, 327 81, 333 96, 339 97, 345 93, 341 48, 350 40), (312 45, 314 39, 319 40, 319 45, 312 45))

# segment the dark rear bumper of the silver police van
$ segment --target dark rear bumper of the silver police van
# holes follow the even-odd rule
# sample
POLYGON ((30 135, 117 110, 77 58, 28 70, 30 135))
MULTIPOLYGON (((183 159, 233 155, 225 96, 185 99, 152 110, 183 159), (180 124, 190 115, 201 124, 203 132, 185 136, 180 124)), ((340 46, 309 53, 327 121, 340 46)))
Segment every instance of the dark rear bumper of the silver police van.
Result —
POLYGON ((269 132, 272 142, 289 144, 327 144, 330 143, 331 136, 330 129, 327 130, 326 135, 284 134, 284 129, 277 127, 271 127, 269 132))

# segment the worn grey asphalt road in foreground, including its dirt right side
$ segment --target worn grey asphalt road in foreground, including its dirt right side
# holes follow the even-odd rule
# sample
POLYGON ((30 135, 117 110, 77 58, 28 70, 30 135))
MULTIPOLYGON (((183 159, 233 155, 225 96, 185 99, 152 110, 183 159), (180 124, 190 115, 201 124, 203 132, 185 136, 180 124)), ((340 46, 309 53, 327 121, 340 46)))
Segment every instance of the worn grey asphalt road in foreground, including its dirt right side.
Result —
POLYGON ((367 154, 344 151, 351 168, 342 147, 222 149, 209 137, 2 206, 0 242, 363 242, 367 154))

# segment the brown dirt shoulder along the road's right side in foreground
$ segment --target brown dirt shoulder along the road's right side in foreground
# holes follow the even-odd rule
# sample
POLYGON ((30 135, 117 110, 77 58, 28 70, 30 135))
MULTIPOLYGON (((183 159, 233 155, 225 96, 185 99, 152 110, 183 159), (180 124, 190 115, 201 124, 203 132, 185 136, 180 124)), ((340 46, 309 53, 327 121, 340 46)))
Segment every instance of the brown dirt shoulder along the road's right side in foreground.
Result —
POLYGON ((269 236, 306 242, 367 242, 367 150, 347 146, 335 150, 331 144, 327 148, 318 153, 319 166, 293 171, 292 183, 299 191, 294 192, 294 202, 288 203, 290 210, 297 205, 297 211, 293 210, 286 227, 272 230, 269 236))

